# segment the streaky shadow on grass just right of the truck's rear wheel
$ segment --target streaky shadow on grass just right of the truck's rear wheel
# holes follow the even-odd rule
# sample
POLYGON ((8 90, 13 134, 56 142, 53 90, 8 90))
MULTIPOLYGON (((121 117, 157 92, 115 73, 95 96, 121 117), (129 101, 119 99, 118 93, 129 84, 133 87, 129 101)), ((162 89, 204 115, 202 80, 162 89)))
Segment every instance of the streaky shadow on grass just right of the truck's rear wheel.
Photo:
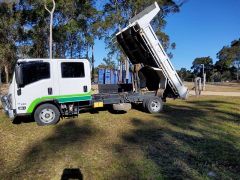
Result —
POLYGON ((228 109, 233 110, 236 107, 236 103, 229 101, 217 101, 217 100, 201 100, 201 101, 187 101, 186 105, 174 106, 165 105, 164 111, 156 115, 158 118, 164 118, 172 125, 180 128, 192 128, 192 122, 196 122, 201 119, 201 122, 209 123, 213 122, 213 117, 218 122, 227 121, 233 123, 240 123, 240 113, 237 110, 229 112, 229 110, 221 110, 219 106, 227 105, 228 109))

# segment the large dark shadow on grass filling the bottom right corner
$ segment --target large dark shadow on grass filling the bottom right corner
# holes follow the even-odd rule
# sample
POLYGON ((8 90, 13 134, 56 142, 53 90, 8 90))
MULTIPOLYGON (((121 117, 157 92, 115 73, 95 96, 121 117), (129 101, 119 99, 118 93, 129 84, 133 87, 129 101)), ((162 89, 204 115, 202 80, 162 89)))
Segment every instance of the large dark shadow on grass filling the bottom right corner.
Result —
MULTIPOLYGON (((132 124, 137 129, 122 135, 124 143, 139 147, 146 159, 157 164, 163 177, 195 179, 214 172, 217 179, 240 178, 240 151, 233 144, 210 136, 197 137, 160 128, 153 121, 133 119, 132 124)), ((119 147, 125 148, 124 145, 115 148, 119 147)), ((120 153, 128 156, 124 150, 120 153)), ((152 176, 150 179, 155 178, 152 176)))

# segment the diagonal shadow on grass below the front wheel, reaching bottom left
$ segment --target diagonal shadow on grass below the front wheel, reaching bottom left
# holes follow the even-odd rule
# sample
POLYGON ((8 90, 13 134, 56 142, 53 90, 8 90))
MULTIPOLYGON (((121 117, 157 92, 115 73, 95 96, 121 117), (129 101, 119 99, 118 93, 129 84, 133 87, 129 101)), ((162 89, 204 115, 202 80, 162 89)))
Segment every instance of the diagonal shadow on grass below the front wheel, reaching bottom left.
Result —
MULTIPOLYGON (((85 142, 101 133, 90 121, 82 121, 80 126, 75 121, 68 121, 53 128, 50 136, 40 141, 36 138, 36 143, 29 145, 22 161, 6 178, 28 179, 34 176, 49 179, 51 177, 48 175, 54 171, 55 165, 60 163, 64 168, 69 168, 75 161, 74 158, 79 157, 85 142)), ((36 132, 36 136, 38 133, 36 132)))

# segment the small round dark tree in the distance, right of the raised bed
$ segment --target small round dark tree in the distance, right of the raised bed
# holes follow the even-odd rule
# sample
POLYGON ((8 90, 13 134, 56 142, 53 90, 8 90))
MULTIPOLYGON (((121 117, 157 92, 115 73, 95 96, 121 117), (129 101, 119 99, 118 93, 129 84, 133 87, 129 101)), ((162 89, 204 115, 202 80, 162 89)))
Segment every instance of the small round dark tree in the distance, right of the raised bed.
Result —
POLYGON ((193 69, 193 73, 196 76, 202 77, 202 73, 203 73, 203 65, 202 64, 204 64, 204 71, 206 72, 206 79, 210 80, 210 77, 212 75, 212 70, 213 70, 213 60, 210 56, 194 59, 194 61, 192 62, 191 69, 193 69))

